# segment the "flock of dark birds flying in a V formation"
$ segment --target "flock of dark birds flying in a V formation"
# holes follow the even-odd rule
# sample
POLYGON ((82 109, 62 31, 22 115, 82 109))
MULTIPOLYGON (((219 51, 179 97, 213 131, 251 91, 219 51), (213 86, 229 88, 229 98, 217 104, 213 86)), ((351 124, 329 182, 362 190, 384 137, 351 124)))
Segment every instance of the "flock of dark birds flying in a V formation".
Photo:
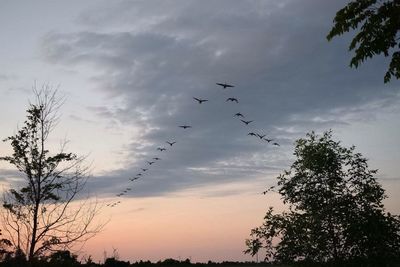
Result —
MULTIPOLYGON (((223 89, 235 87, 234 85, 231 85, 231 84, 228 84, 228 83, 216 83, 216 84, 219 85, 219 86, 221 86, 223 89)), ((208 102, 208 99, 201 99, 201 98, 198 98, 198 97, 193 97, 193 99, 194 99, 198 104, 203 104, 203 103, 205 103, 205 102, 208 102)), ((239 100, 238 100, 237 98, 235 98, 235 97, 229 97, 229 98, 226 99, 226 102, 239 103, 239 100)), ((240 112, 235 113, 235 114, 234 114, 234 117, 239 118, 240 121, 243 122, 245 125, 249 125, 250 123, 253 122, 252 120, 245 120, 245 116, 244 116, 242 113, 240 113, 240 112)), ((179 127, 179 128, 182 128, 182 129, 184 129, 184 130, 193 128, 191 125, 186 125, 186 124, 179 125, 178 127, 179 127)), ((268 143, 268 144, 271 144, 271 145, 273 145, 273 146, 280 146, 278 142, 273 142, 274 139, 267 138, 267 137, 266 137, 266 136, 267 136, 266 134, 260 134, 260 133, 255 133, 255 132, 249 132, 247 135, 248 135, 248 136, 252 136, 252 137, 256 137, 256 138, 260 139, 261 141, 264 141, 264 142, 266 142, 266 143, 268 143)), ((174 141, 174 140, 172 140, 172 141, 171 141, 171 140, 165 141, 165 144, 168 145, 168 146, 167 146, 168 149, 172 148, 176 143, 177 143, 177 141, 174 141)), ((165 147, 165 146, 159 146, 159 147, 156 148, 156 150, 159 151, 160 153, 162 153, 162 152, 167 151, 167 147, 165 147)), ((159 161, 159 160, 161 160, 160 157, 153 157, 153 158, 150 158, 150 159, 146 160, 145 164, 147 164, 147 165, 146 165, 145 167, 140 168, 140 169, 139 169, 139 172, 138 172, 135 176, 129 178, 129 181, 133 182, 133 181, 138 180, 138 179, 140 179, 141 177, 143 177, 143 176, 147 173, 147 171, 150 170, 150 168, 152 167, 152 165, 155 164, 155 163, 156 163, 157 161, 159 161)), ((121 192, 119 192, 118 194, 116 194, 115 196, 118 197, 118 198, 123 197, 124 195, 128 194, 129 191, 131 191, 131 190, 132 190, 132 188, 128 186, 128 187, 126 187, 123 191, 121 191, 121 192)), ((106 204, 106 206, 107 206, 107 207, 113 208, 113 207, 117 206, 117 205, 120 204, 120 203, 121 203, 121 200, 115 200, 115 201, 112 201, 112 202, 106 204)))

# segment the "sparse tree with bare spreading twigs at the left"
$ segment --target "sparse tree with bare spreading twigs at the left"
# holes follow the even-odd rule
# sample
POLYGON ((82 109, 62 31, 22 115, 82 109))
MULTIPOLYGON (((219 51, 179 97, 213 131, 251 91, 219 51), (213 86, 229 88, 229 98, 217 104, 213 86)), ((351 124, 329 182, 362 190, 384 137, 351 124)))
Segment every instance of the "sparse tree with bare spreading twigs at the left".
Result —
POLYGON ((15 249, 30 262, 51 251, 72 249, 103 227, 94 222, 97 202, 80 197, 88 179, 85 157, 65 152, 66 141, 57 153, 48 149, 64 102, 56 93, 48 85, 34 87, 35 101, 23 127, 4 140, 13 153, 0 157, 22 174, 20 186, 4 193, 2 222, 15 249))

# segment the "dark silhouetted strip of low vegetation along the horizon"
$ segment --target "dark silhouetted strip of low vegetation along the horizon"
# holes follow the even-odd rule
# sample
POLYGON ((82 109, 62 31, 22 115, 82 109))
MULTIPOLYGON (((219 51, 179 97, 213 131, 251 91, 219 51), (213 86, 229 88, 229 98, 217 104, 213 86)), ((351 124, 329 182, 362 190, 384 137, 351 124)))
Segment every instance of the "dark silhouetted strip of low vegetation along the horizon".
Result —
POLYGON ((82 262, 78 261, 77 256, 69 251, 57 251, 47 257, 42 257, 30 264, 24 255, 8 254, 3 257, 0 267, 400 267, 400 255, 396 259, 374 259, 370 261, 352 260, 347 262, 296 262, 291 264, 274 264, 267 262, 212 262, 192 263, 189 259, 184 261, 175 259, 165 259, 158 262, 150 261, 123 261, 115 257, 109 257, 104 263, 95 263, 89 257, 82 262))

